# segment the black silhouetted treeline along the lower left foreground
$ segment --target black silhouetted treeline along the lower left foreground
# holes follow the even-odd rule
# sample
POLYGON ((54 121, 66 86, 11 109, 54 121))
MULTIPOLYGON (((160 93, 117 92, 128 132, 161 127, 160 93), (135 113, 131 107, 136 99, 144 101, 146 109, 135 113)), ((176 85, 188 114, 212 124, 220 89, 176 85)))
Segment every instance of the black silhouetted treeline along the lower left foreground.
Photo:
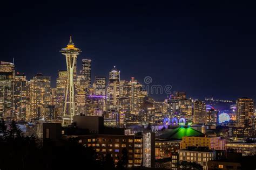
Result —
POLYGON ((36 136, 25 136, 15 121, 9 127, 4 120, 0 121, 0 169, 125 169, 128 158, 123 150, 117 166, 113 158, 106 154, 97 159, 92 147, 80 145, 76 138, 63 141, 56 146, 52 141, 40 145, 36 136))

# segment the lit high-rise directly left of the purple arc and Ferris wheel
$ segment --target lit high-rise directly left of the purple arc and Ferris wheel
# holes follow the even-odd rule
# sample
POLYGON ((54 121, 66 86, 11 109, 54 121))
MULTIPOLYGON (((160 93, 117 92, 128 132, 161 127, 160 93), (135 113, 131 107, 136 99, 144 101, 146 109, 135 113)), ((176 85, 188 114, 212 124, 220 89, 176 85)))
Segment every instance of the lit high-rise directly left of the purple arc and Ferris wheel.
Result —
POLYGON ((194 124, 206 124, 207 123, 207 112, 206 112, 206 104, 202 101, 194 102, 193 107, 193 123, 194 124))

